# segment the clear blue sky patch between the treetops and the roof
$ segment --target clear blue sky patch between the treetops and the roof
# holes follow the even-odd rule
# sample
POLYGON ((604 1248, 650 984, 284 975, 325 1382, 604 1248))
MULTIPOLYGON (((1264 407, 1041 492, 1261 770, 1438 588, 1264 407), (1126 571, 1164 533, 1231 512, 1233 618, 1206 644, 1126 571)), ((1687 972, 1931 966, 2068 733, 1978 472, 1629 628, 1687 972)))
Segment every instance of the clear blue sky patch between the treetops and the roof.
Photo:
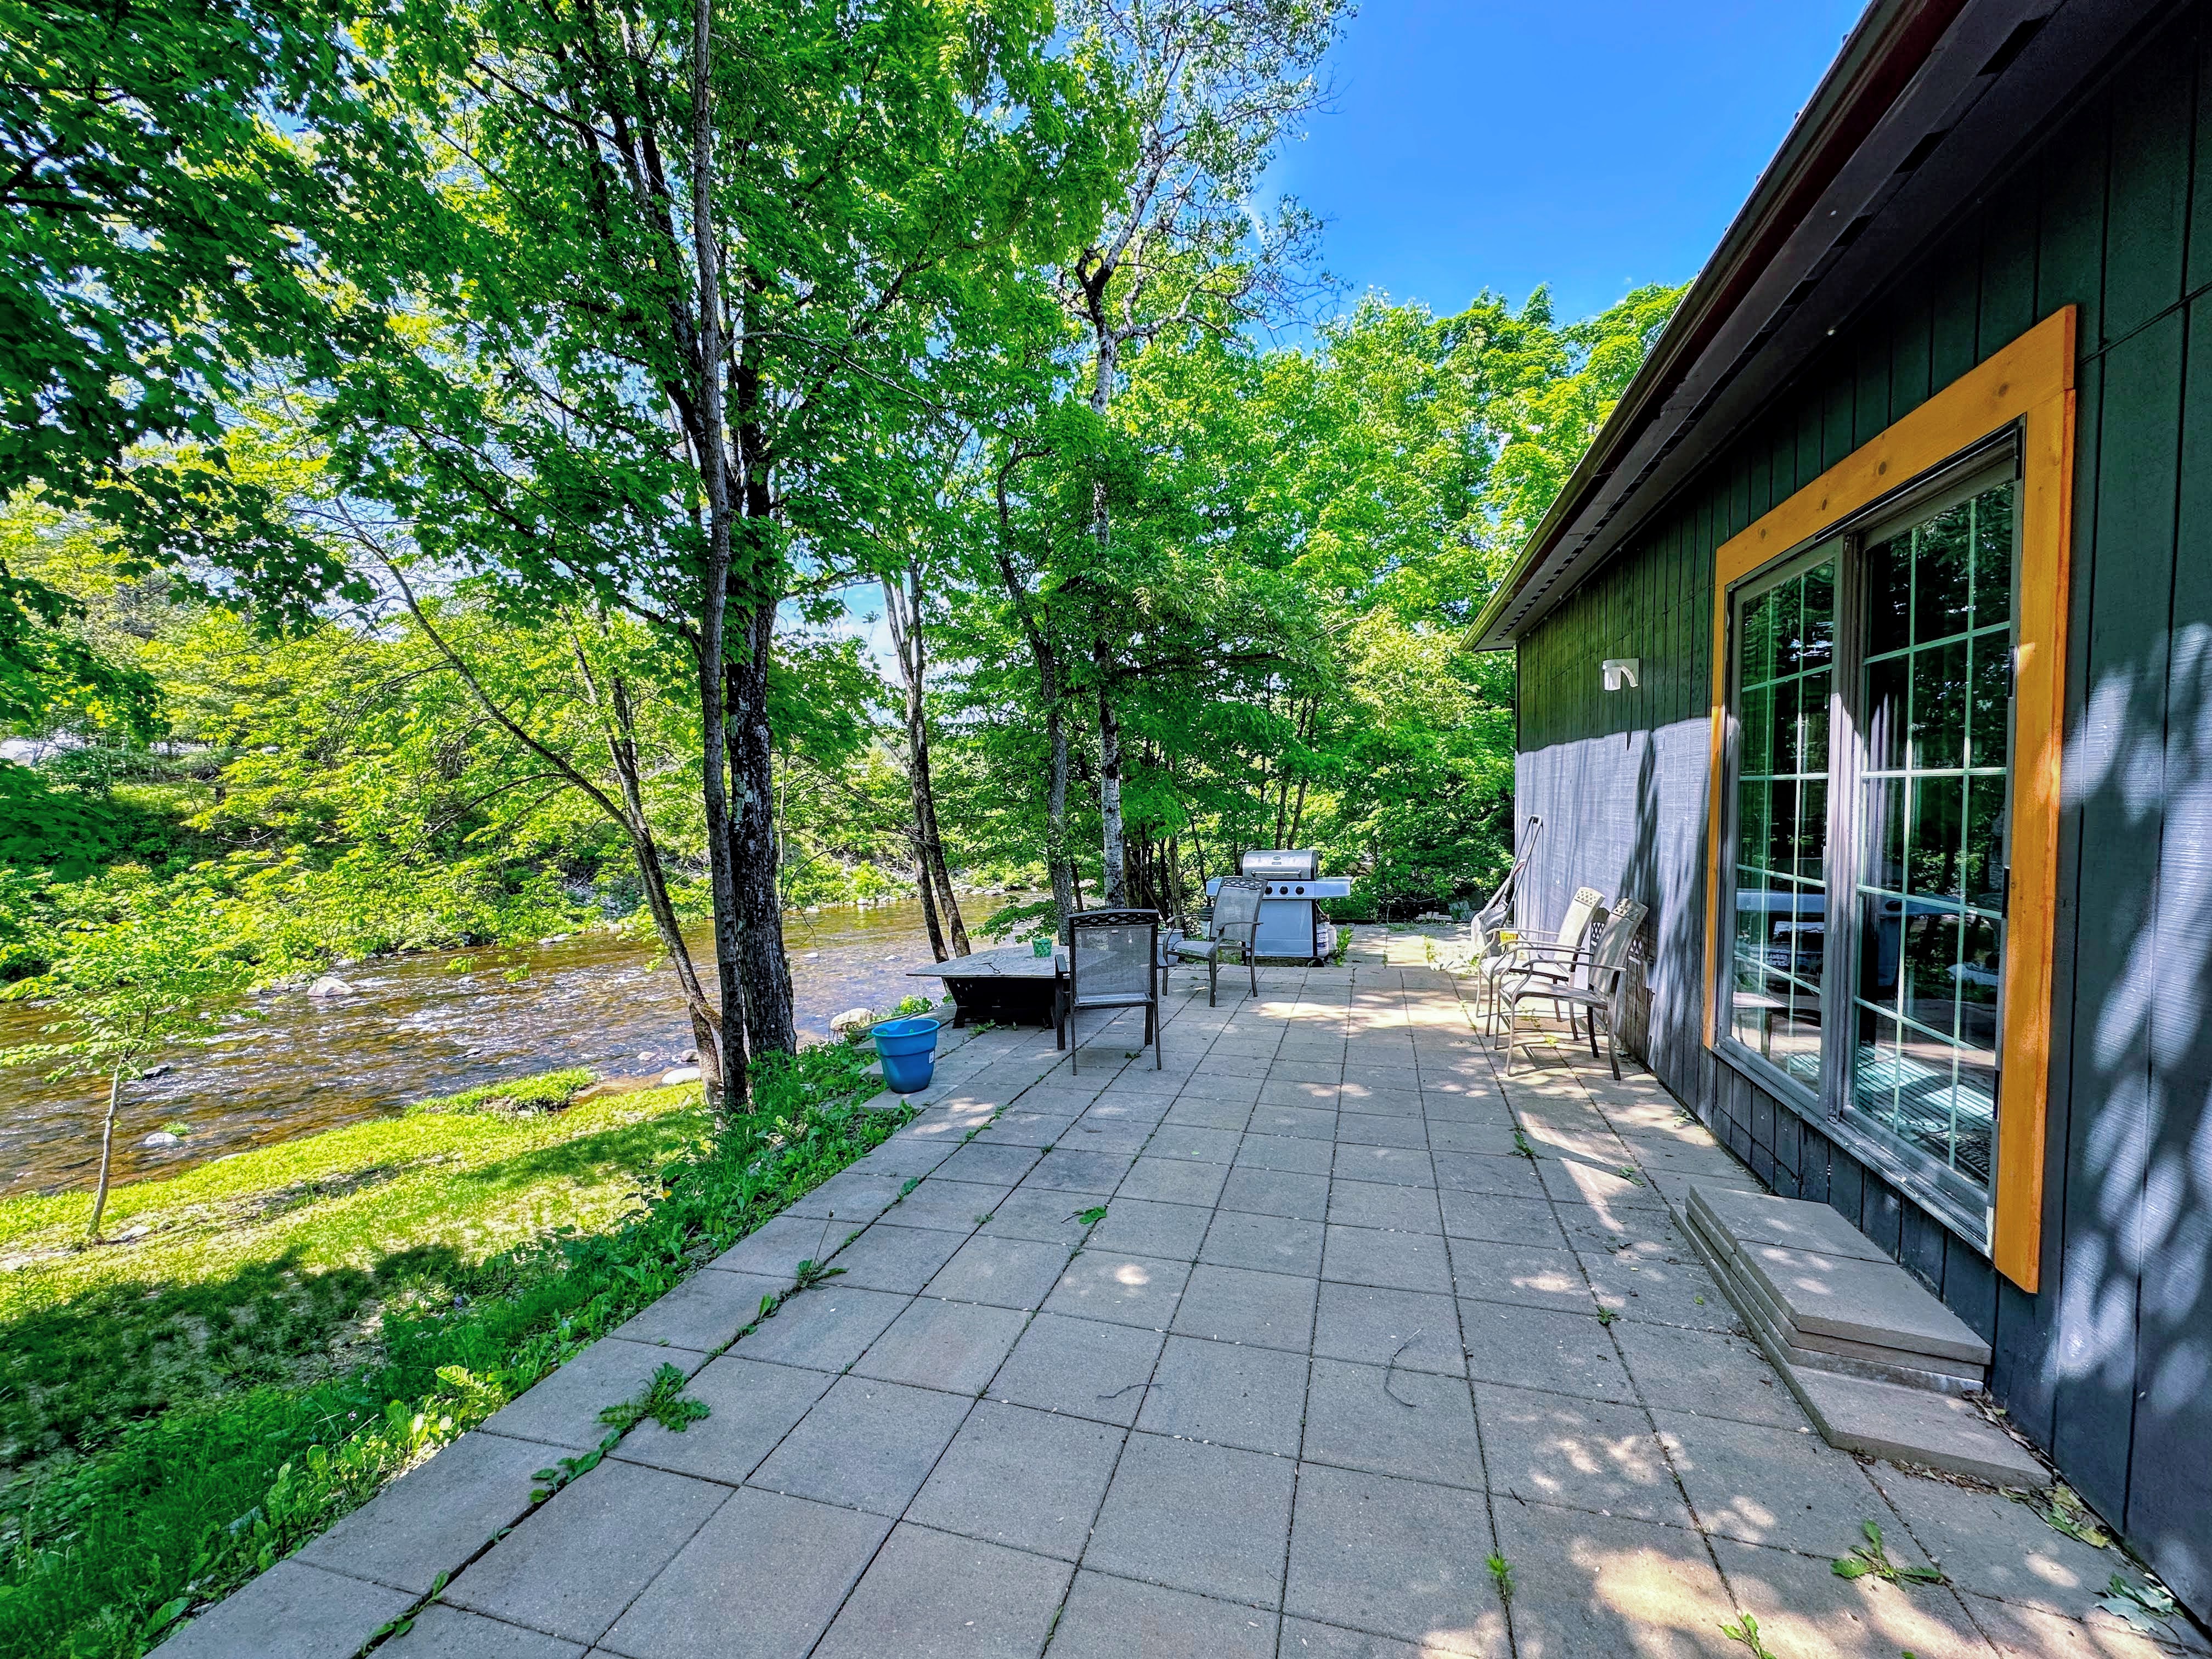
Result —
POLYGON ((1267 177, 1352 294, 1562 319, 1690 279, 1858 0, 1363 0, 1332 106, 1267 177))

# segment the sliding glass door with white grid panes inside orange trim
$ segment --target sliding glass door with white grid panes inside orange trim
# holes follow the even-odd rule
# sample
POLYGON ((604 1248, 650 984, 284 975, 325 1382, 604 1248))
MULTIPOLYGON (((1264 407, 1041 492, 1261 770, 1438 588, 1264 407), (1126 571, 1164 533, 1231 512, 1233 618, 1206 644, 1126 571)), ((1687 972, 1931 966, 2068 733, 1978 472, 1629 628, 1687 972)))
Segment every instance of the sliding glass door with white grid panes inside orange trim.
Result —
POLYGON ((1969 1239, 1997 1141, 2017 462, 1730 593, 1719 1042, 1969 1239))

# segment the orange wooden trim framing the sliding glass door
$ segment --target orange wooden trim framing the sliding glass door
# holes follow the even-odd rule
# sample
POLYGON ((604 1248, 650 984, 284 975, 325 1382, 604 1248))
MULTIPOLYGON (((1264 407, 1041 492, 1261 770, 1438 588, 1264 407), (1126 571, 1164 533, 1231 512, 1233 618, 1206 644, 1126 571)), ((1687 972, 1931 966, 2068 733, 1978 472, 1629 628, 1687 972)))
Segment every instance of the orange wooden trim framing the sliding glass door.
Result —
POLYGON ((1991 1261, 2039 1281, 2051 958, 2057 936, 2059 750, 2066 728, 2066 573, 2073 540, 2075 307, 2031 327, 1772 513, 1732 535, 1712 580, 1712 803, 1705 825, 1705 1046, 1719 1042, 1721 827, 1728 774, 1728 591, 1975 442, 2020 429, 2020 613, 2013 686, 2013 887, 2004 942, 2004 1082, 1991 1261))

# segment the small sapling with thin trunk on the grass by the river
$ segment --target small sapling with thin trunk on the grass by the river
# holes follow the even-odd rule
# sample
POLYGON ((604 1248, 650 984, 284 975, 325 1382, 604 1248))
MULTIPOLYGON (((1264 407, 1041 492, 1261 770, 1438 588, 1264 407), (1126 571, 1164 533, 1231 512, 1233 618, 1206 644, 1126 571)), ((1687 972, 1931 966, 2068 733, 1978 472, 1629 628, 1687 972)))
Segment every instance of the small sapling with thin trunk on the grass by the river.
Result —
POLYGON ((102 911, 51 927, 38 949, 46 971, 0 995, 44 1004, 55 1015, 40 1026, 49 1042, 0 1051, 0 1064, 46 1066, 46 1082, 108 1079, 100 1186, 86 1223, 86 1239, 100 1243, 124 1084, 144 1077, 157 1051, 206 1033, 246 991, 250 973, 237 960, 223 902, 206 889, 119 894, 102 911))

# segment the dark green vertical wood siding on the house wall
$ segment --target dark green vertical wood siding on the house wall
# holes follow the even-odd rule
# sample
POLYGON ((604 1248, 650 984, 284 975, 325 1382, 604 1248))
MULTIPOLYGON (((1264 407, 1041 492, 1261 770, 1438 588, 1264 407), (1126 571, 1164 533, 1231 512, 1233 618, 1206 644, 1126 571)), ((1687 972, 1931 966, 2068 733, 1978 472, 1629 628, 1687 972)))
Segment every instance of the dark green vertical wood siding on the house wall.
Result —
MULTIPOLYGON (((1776 1190, 1825 1199, 1991 1338, 2013 1420, 2212 1610, 2212 4, 1922 252, 1520 644, 1526 887, 1652 907, 1655 1071, 1776 1190), (1705 1053, 1714 549, 2059 305, 2081 307, 2044 1290, 1705 1053), (1644 686, 1599 690, 1604 657, 1644 686)), ((1694 438, 1692 438, 1694 442, 1694 438)))

